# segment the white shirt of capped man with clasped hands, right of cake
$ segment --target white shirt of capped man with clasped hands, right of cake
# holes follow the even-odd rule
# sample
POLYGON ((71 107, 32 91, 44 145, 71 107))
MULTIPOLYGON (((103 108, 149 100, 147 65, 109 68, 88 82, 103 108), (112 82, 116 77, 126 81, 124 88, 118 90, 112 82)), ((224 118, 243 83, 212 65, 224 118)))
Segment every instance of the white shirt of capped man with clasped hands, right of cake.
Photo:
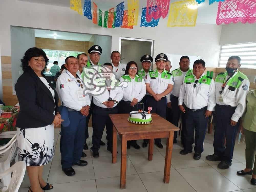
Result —
MULTIPOLYGON (((154 71, 156 71, 156 70, 157 69, 155 69, 154 71)), ((167 71, 164 69, 162 73, 167 73, 167 71)), ((155 77, 155 78, 152 78, 149 75, 149 77, 145 80, 145 83, 149 83, 150 84, 150 88, 156 94, 163 93, 168 88, 168 84, 173 85, 172 77, 170 79, 161 78, 161 74, 162 73, 158 72, 158 77, 155 77)))

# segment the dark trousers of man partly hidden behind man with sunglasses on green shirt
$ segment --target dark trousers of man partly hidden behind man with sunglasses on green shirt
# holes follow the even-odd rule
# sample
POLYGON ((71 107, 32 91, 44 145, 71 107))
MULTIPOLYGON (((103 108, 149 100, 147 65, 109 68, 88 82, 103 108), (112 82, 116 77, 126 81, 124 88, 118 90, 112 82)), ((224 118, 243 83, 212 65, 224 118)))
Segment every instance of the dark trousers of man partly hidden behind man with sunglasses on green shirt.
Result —
MULTIPOLYGON (((184 144, 184 132, 186 131, 186 121, 185 121, 185 113, 182 113, 179 109, 179 101, 178 97, 175 97, 172 95, 171 97, 171 104, 172 104, 172 121, 171 123, 174 124, 175 126, 178 126, 179 123, 179 118, 180 118, 180 113, 181 113, 181 120, 182 120, 182 130, 181 130, 181 142, 184 144)), ((178 131, 174 131, 174 138, 177 138, 178 131)), ((193 143, 194 143, 194 138, 193 138, 193 143)), ((192 143, 192 144, 193 144, 192 143)))

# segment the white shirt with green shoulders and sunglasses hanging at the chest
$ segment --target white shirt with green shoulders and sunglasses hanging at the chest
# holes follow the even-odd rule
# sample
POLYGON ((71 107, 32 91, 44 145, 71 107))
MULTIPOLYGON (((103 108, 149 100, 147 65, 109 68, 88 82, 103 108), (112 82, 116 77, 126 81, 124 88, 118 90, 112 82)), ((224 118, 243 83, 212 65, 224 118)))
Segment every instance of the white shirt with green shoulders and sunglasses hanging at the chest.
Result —
MULTIPOLYGON (((203 73, 200 78, 202 78, 205 74, 203 73)), ((193 74, 195 80, 196 77, 193 74)), ((200 78, 198 80, 200 80, 200 78)), ((189 109, 202 109, 207 106, 208 111, 213 111, 216 100, 215 100, 215 83, 214 80, 211 79, 210 85, 205 83, 196 83, 196 87, 194 87, 195 83, 186 84, 185 79, 183 80, 183 84, 180 87, 179 92, 179 105, 184 104, 189 109)))

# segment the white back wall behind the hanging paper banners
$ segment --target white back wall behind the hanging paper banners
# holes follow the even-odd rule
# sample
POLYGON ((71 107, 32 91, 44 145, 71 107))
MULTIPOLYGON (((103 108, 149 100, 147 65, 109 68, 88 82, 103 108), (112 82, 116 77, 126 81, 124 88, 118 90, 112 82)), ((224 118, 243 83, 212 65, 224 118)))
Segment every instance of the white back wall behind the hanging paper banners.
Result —
POLYGON ((16 0, 3 0, 0 6, 1 55, 11 56, 10 26, 32 27, 78 33, 111 36, 111 51, 119 49, 119 37, 154 40, 155 57, 160 52, 177 55, 200 55, 209 67, 217 67, 221 26, 197 24, 195 27, 168 28, 167 19, 160 19, 158 27, 134 29, 102 28, 68 7, 51 6, 16 0))

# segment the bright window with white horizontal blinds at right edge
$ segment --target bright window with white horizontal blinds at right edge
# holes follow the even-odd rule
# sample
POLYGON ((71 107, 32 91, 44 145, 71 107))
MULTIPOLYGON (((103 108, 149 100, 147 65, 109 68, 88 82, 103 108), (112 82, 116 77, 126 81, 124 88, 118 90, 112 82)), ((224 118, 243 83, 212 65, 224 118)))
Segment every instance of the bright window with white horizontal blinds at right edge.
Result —
POLYGON ((219 67, 226 67, 228 58, 233 55, 241 58, 241 68, 256 68, 256 42, 222 45, 219 67))

